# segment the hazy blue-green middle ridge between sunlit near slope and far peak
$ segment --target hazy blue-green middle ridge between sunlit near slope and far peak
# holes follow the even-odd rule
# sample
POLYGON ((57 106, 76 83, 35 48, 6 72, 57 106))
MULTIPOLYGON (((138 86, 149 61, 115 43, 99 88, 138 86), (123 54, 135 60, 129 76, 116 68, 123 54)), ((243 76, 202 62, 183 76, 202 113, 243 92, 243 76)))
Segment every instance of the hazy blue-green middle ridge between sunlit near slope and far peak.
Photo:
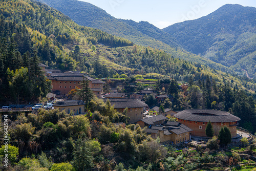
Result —
POLYGON ((185 51, 170 34, 148 22, 117 19, 104 10, 77 0, 37 0, 68 15, 81 26, 97 28, 110 34, 133 41, 137 45, 161 49, 172 56, 191 62, 201 63, 213 69, 232 73, 227 67, 214 61, 185 51))

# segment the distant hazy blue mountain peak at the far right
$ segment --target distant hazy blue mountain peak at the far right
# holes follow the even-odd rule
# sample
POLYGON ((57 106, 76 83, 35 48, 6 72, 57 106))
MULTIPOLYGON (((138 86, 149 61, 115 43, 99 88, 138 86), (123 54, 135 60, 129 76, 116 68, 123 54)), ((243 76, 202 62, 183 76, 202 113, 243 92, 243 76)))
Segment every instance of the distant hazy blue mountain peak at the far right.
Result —
POLYGON ((256 76, 256 8, 227 4, 207 16, 162 29, 187 51, 256 76))

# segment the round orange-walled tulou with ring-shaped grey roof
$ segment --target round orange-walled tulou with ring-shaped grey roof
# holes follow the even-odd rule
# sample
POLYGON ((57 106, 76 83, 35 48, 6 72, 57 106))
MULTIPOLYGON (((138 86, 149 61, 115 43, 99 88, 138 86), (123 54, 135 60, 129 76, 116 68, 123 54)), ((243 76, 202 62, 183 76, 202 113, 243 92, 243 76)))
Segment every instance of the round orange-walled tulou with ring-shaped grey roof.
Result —
POLYGON ((193 131, 191 135, 199 137, 207 137, 205 135, 205 127, 210 121, 214 129, 215 135, 219 134, 222 126, 227 126, 231 132, 232 138, 237 136, 237 125, 240 118, 231 115, 228 112, 216 110, 184 110, 174 115, 178 121, 193 131))

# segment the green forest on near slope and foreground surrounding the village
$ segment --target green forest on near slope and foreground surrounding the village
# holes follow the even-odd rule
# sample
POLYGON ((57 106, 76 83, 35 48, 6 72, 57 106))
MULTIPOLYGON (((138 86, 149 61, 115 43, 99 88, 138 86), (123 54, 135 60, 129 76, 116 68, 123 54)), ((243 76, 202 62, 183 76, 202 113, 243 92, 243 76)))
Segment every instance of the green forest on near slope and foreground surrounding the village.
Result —
MULTIPOLYGON (((117 88, 115 81, 122 81, 123 89, 117 90, 127 94, 152 89, 168 95, 163 103, 146 95, 144 100, 150 107, 227 111, 240 117, 241 126, 251 134, 256 132, 254 79, 79 26, 39 2, 1 0, 0 104, 43 101, 51 92, 51 82, 39 63, 104 78, 105 87, 117 88), (143 84, 144 79, 155 83, 143 84)), ((209 169, 209 164, 221 170, 247 163, 237 153, 225 153, 216 137, 211 139, 216 146, 191 146, 191 151, 183 151, 184 146, 164 146, 146 134, 146 127, 127 124, 127 110, 119 113, 110 101, 94 97, 86 115, 39 109, 37 114, 20 113, 2 120, 1 135, 4 123, 8 123, 8 170, 199 170, 209 169)), ((256 156, 255 146, 247 148, 256 156)), ((1 159, 4 150, 2 145, 1 159)), ((3 163, 0 168, 5 168, 3 163)))

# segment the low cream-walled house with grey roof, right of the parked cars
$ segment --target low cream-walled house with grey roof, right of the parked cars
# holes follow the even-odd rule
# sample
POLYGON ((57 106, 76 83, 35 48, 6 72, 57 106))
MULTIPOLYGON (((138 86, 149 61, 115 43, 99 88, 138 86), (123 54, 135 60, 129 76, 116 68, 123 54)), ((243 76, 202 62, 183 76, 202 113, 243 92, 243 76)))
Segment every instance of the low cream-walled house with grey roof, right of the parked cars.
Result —
POLYGON ((57 101, 53 104, 54 109, 65 110, 67 114, 72 111, 75 115, 84 114, 84 102, 82 100, 57 101))

